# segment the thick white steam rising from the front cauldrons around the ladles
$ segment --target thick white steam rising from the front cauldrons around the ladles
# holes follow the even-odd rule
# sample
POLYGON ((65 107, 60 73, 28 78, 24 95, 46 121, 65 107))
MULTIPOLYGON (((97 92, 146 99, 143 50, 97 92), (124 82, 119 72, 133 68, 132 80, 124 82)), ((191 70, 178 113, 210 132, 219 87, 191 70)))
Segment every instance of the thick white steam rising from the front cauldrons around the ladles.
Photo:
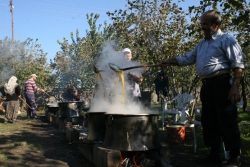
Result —
MULTIPOLYGON (((103 45, 101 56, 97 61, 96 67, 102 76, 98 77, 98 89, 96 96, 91 102, 89 112, 106 112, 116 114, 149 114, 151 111, 144 108, 140 102, 134 101, 130 95, 127 72, 124 71, 125 95, 123 94, 122 81, 119 74, 109 67, 113 63, 120 68, 140 65, 135 61, 128 61, 121 51, 116 51, 114 42, 109 41, 103 45)), ((133 54, 133 51, 132 51, 133 54)), ((129 70, 139 76, 142 75, 143 68, 129 70)))

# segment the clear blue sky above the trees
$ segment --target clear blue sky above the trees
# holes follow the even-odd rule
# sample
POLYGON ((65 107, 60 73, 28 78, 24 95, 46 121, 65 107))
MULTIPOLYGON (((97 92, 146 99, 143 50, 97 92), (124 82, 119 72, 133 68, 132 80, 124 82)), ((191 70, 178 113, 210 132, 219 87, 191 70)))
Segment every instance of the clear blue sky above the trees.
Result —
MULTIPOLYGON (((179 6, 199 5, 200 0, 186 0, 179 6)), ((177 2, 177 0, 176 0, 177 2)), ((70 40, 70 33, 79 30, 84 37, 89 30, 87 13, 100 14, 98 23, 110 23, 107 11, 126 9, 127 0, 12 0, 14 18, 14 40, 38 39, 38 44, 48 53, 47 60, 53 59, 60 51, 57 40, 70 40)), ((0 0, 0 39, 12 39, 10 0, 0 0)))

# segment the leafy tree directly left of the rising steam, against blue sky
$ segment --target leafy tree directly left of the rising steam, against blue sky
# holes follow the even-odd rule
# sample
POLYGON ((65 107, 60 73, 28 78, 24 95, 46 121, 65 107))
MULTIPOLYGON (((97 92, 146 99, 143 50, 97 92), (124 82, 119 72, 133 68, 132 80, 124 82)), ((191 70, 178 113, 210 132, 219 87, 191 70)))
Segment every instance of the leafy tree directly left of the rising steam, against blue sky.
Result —
POLYGON ((102 44, 112 38, 112 33, 111 26, 106 22, 103 31, 100 30, 102 25, 97 26, 98 14, 87 14, 86 17, 90 30, 86 31, 85 37, 79 37, 77 30, 76 39, 71 33, 72 43, 65 38, 63 42, 58 41, 62 51, 57 52, 51 66, 59 78, 57 81, 59 87, 71 84, 83 90, 91 90, 95 85, 96 76, 92 64, 99 58, 102 44))

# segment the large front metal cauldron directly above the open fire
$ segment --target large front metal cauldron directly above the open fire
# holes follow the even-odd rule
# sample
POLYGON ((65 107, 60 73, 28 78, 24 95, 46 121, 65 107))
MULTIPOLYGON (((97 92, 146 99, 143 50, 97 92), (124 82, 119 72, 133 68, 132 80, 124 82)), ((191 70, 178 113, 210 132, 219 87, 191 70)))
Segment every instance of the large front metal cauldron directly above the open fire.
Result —
POLYGON ((157 114, 105 114, 104 147, 123 151, 145 151, 161 147, 157 114))

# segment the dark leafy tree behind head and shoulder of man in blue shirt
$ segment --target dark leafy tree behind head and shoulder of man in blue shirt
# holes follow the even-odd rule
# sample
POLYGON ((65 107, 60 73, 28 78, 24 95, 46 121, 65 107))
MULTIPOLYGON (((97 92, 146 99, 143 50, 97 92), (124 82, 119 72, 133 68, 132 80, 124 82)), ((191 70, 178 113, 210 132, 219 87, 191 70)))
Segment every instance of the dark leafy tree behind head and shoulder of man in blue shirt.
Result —
MULTIPOLYGON (((193 20, 198 22, 199 17, 206 10, 214 9, 222 15, 222 30, 234 35, 245 53, 244 61, 246 69, 244 76, 247 86, 247 94, 250 95, 250 73, 249 73, 249 56, 250 56, 250 2, 246 0, 206 0, 200 1, 200 6, 189 7, 189 13, 193 14, 193 20)), ((190 27, 190 34, 200 31, 200 27, 196 24, 190 27)))

